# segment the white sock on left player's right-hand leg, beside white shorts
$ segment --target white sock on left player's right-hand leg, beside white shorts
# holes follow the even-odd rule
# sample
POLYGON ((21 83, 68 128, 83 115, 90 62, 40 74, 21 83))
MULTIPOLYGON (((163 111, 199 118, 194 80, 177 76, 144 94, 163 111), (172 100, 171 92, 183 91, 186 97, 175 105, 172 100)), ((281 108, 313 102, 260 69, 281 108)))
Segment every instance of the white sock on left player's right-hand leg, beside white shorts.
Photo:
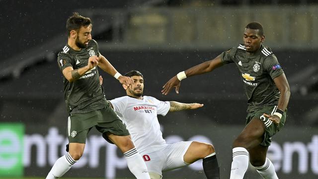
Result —
POLYGON ((127 160, 130 172, 133 173, 137 179, 150 179, 147 166, 136 148, 125 152, 124 156, 127 160))

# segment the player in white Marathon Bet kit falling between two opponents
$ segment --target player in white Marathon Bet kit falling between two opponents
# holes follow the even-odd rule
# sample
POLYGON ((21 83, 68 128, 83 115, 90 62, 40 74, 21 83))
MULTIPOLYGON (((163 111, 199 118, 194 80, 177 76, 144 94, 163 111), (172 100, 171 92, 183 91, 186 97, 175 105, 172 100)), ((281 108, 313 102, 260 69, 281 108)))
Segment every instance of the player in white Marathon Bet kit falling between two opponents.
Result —
POLYGON ((143 96, 144 78, 138 71, 125 74, 133 79, 127 95, 110 100, 114 111, 126 124, 137 151, 143 156, 151 179, 161 179, 162 171, 184 167, 203 159, 203 170, 208 179, 219 179, 220 172, 215 149, 211 144, 186 141, 167 144, 162 138, 157 115, 169 111, 196 109, 199 103, 159 101, 143 96))

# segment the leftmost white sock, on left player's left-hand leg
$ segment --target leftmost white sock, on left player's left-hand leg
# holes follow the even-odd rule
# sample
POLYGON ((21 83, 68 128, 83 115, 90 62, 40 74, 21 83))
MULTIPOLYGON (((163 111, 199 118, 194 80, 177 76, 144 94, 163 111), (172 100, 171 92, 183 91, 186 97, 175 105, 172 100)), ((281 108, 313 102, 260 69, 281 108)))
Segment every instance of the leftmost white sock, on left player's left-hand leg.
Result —
POLYGON ((55 162, 46 179, 58 179, 62 177, 76 162, 77 161, 67 153, 55 162))

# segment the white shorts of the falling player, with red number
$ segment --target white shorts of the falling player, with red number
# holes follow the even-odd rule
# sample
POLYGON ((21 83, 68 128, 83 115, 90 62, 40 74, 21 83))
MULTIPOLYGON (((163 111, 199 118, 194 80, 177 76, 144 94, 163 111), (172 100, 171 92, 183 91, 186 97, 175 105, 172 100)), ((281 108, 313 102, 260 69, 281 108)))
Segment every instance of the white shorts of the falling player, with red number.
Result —
POLYGON ((162 176, 162 171, 169 171, 187 166, 183 156, 192 141, 181 141, 150 153, 143 153, 142 157, 147 165, 148 172, 154 172, 162 176))

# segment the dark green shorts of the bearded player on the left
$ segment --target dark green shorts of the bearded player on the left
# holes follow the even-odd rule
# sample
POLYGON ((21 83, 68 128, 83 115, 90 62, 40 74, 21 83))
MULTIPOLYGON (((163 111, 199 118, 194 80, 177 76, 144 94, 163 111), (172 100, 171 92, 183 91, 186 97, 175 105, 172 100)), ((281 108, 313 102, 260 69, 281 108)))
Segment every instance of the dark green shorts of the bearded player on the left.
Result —
POLYGON ((85 143, 86 136, 94 127, 101 132, 103 137, 110 143, 106 133, 110 132, 118 136, 130 135, 126 125, 119 116, 107 104, 105 108, 87 112, 84 114, 71 114, 68 119, 68 138, 70 143, 85 143))

